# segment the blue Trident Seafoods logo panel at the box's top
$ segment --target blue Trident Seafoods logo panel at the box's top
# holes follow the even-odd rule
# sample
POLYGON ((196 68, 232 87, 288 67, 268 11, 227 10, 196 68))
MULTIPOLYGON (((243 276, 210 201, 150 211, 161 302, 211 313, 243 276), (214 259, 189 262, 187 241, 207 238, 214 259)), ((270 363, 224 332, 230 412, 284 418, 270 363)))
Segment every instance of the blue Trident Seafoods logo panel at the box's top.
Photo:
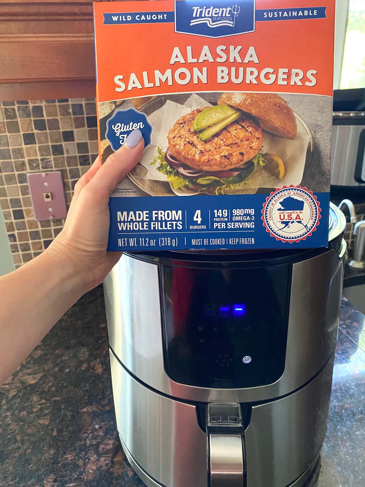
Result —
POLYGON ((175 0, 175 32, 202 37, 227 37, 255 30, 255 0, 175 0))

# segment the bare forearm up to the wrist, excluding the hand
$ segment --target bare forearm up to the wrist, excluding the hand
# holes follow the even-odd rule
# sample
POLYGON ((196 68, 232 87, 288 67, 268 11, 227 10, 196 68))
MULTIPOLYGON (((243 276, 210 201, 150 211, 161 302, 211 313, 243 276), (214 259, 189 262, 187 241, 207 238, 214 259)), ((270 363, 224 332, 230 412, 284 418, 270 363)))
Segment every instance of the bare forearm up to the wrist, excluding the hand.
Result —
POLYGON ((0 278, 0 384, 86 290, 82 273, 51 249, 0 278))

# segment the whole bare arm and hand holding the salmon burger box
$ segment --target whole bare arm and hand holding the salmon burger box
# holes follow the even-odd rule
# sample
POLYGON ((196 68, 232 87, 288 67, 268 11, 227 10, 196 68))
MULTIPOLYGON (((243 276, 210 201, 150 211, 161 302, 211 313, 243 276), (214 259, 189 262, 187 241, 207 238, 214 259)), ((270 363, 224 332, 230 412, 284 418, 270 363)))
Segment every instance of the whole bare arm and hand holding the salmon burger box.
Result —
POLYGON ((0 384, 120 259, 120 252, 107 252, 109 197, 144 147, 134 130, 102 167, 97 158, 74 187, 62 232, 36 259, 0 278, 0 384))

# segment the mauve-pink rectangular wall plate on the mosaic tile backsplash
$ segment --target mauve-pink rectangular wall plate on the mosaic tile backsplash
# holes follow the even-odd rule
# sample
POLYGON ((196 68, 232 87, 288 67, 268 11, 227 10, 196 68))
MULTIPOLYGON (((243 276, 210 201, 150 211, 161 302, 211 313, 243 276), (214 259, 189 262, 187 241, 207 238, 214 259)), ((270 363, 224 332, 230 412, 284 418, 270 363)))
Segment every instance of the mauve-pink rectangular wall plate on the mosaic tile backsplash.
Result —
POLYGON ((67 206, 61 171, 27 174, 34 217, 37 221, 66 218, 67 206))

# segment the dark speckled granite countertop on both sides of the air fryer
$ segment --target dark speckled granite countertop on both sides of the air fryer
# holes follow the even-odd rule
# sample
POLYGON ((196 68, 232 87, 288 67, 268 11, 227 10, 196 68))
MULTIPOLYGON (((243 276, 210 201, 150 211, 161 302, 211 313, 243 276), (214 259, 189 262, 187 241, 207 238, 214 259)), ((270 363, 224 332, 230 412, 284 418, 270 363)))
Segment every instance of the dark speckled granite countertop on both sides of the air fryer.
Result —
MULTIPOLYGON (((342 300, 328 432, 308 487, 365 485, 364 319, 342 300)), ((144 485, 116 430, 101 287, 58 321, 0 401, 0 487, 144 485)))

